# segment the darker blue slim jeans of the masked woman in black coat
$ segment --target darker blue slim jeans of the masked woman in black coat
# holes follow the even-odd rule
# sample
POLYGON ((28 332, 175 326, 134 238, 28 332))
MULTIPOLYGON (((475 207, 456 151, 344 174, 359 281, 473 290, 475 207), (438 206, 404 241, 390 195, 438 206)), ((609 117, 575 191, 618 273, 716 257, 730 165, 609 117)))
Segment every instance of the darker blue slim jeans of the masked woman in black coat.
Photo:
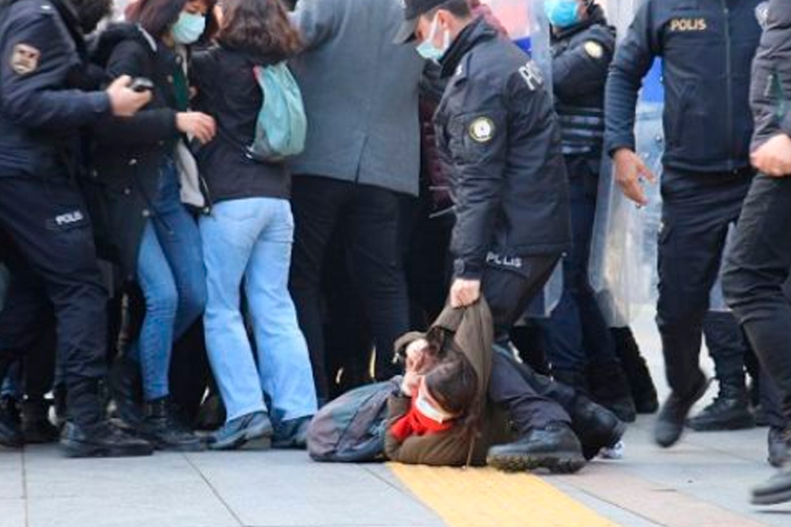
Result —
POLYGON ((176 168, 160 169, 154 214, 146 224, 138 254, 138 282, 146 316, 128 356, 141 366, 146 401, 169 395, 173 342, 200 317, 206 305, 198 225, 181 204, 176 168))

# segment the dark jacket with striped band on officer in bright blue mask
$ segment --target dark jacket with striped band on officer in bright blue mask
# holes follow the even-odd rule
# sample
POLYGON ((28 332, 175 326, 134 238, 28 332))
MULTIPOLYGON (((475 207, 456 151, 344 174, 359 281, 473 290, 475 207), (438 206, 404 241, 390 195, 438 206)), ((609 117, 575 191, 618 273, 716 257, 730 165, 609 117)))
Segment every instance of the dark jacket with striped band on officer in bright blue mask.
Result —
POLYGON ((552 88, 563 153, 598 160, 604 141, 604 85, 615 28, 592 6, 587 20, 552 34, 552 88))

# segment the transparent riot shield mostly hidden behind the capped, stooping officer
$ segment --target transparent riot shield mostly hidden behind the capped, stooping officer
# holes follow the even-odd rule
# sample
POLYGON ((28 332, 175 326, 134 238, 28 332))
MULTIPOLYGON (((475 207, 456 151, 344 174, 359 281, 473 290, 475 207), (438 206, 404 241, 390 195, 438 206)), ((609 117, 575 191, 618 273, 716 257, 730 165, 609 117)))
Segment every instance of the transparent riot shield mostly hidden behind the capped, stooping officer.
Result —
MULTIPOLYGON (((543 0, 483 0, 492 14, 517 44, 539 66, 544 86, 552 92, 552 55, 550 24, 543 9, 543 0)), ((563 292, 562 265, 558 263, 543 294, 528 308, 527 317, 545 318, 560 302, 563 292)))

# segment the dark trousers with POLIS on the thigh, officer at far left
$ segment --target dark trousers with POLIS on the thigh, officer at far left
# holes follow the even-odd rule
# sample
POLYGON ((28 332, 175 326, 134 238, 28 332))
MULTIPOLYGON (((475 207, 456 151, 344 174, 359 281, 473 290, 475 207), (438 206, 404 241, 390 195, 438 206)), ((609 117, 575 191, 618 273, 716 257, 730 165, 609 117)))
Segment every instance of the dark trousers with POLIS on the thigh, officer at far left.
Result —
MULTIPOLYGON (((14 280, 0 314, 2 362, 36 341, 40 315, 51 306, 59 367, 68 393, 74 393, 70 416, 78 422, 96 420, 95 401, 85 397, 84 387, 102 378, 107 367, 107 292, 78 188, 65 176, 0 175, 0 228, 26 265, 15 269, 12 260, 10 266, 14 280)), ((7 244, 2 250, 9 250, 7 244)))

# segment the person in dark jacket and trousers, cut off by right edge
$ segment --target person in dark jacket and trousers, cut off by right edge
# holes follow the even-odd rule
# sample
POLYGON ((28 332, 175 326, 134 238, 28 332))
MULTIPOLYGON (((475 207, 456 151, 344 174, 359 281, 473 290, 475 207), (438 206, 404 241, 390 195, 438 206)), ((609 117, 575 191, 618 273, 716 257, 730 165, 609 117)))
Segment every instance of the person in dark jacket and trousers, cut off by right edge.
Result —
MULTIPOLYGON (((766 31, 753 63, 755 117, 751 160, 757 175, 725 260, 725 300, 742 323, 760 362, 782 396, 791 423, 791 305, 784 292, 791 269, 791 4, 770 0, 759 8, 766 31)), ((791 426, 782 433, 784 467, 755 487, 752 502, 791 501, 791 426)))

